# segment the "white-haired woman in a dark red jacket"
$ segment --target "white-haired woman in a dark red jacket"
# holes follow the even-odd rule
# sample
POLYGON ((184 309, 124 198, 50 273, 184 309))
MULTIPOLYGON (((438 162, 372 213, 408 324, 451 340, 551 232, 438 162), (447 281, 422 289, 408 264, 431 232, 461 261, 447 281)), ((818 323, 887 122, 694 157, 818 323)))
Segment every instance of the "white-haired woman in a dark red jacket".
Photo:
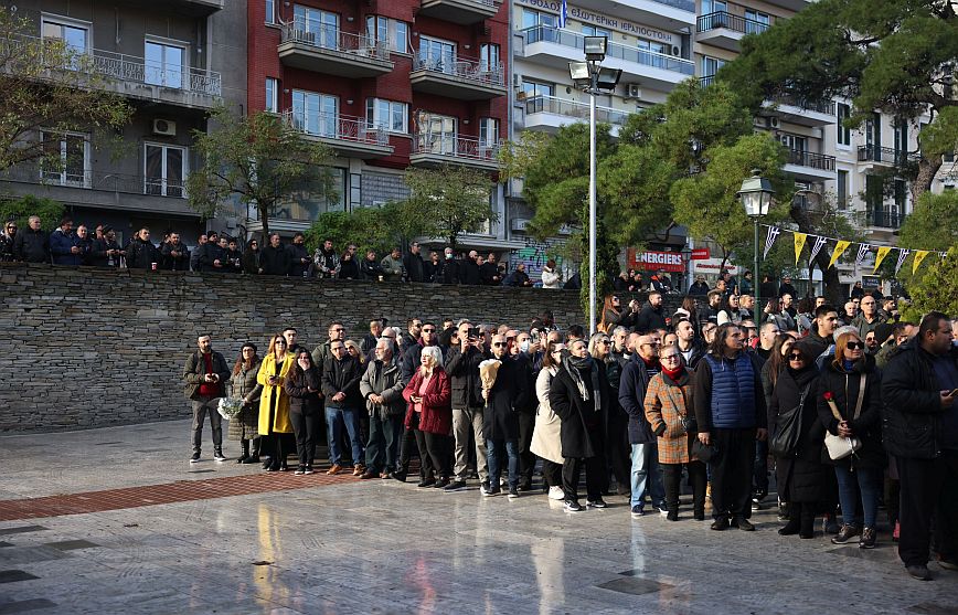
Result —
POLYGON ((448 446, 453 432, 453 389, 441 363, 439 347, 423 348, 422 364, 403 390, 403 399, 408 404, 406 428, 416 435, 423 467, 427 466, 427 458, 433 462, 418 487, 438 489, 449 485, 451 474, 448 446))

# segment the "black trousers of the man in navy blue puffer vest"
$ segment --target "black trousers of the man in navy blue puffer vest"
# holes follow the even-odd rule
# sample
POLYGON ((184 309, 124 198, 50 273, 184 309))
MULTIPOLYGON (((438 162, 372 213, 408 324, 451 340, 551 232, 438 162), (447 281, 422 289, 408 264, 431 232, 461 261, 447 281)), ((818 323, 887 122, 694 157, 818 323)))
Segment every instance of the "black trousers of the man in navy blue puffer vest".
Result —
POLYGON ((752 470, 755 465, 755 428, 712 430, 718 455, 712 470, 712 517, 752 517, 752 470))

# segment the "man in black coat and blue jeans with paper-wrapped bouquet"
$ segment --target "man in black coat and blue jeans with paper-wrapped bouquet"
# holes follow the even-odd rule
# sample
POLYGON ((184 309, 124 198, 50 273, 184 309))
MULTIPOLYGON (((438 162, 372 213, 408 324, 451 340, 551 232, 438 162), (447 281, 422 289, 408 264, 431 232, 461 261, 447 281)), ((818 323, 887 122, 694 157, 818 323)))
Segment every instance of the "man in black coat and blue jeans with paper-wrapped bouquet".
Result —
POLYGON ((492 357, 502 361, 491 390, 482 390, 486 400, 482 431, 489 453, 489 489, 486 496, 500 494, 502 462, 509 458, 509 497, 519 497, 519 416, 515 409, 529 395, 519 373, 519 363, 507 352, 505 336, 492 336, 492 357))

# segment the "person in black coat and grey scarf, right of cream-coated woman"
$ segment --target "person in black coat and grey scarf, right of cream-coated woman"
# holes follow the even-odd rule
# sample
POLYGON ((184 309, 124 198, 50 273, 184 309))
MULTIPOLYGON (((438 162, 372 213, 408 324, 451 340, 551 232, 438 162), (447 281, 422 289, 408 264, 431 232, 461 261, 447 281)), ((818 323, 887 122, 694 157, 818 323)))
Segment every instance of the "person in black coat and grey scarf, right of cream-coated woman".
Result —
POLYGON ((549 404, 560 417, 562 442, 562 490, 565 509, 578 512, 578 475, 585 465, 586 506, 606 508, 604 425, 608 417, 611 390, 605 364, 593 360, 585 340, 570 343, 570 357, 552 380, 549 404))

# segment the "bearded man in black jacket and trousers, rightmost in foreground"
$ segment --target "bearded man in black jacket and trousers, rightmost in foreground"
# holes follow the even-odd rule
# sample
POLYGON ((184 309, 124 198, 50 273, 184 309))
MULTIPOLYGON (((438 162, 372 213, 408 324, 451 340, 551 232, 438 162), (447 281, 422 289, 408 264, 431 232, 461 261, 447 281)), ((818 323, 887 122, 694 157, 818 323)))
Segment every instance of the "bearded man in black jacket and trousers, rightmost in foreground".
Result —
POLYGON ((943 568, 958 569, 958 350, 940 311, 922 319, 918 335, 893 351, 882 375, 885 448, 902 481, 898 556, 927 581, 932 515, 943 568))

